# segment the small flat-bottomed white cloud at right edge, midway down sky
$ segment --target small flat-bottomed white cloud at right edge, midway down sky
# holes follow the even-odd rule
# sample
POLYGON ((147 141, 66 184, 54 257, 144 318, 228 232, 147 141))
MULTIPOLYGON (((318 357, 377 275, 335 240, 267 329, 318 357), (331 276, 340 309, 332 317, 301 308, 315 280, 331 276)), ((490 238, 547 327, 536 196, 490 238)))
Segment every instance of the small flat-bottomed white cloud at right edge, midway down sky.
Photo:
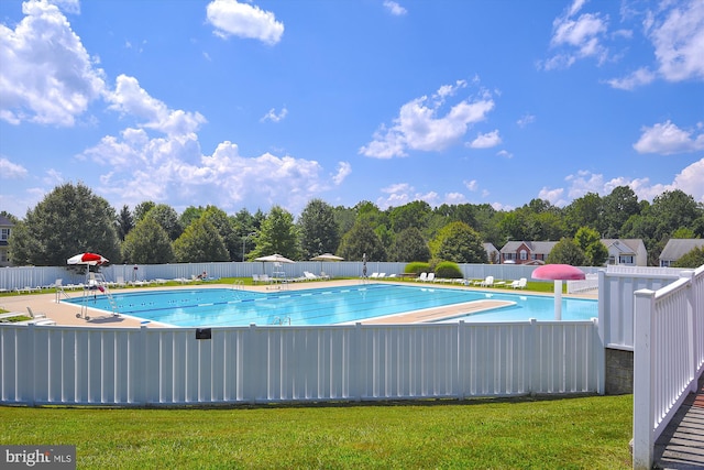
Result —
POLYGON ((704 133, 693 135, 692 132, 678 128, 670 121, 644 127, 642 134, 634 144, 638 153, 659 153, 671 155, 704 150, 704 133))

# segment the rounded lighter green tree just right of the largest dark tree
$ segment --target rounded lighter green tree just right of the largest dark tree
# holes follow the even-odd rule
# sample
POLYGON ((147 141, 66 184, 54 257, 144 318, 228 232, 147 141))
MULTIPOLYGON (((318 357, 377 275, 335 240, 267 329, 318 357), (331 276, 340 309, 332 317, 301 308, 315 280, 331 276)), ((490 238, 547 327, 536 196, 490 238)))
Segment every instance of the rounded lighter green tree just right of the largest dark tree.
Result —
POLYGON ((174 262, 174 250, 166 230, 151 217, 138 222, 122 242, 125 263, 164 264, 174 262))

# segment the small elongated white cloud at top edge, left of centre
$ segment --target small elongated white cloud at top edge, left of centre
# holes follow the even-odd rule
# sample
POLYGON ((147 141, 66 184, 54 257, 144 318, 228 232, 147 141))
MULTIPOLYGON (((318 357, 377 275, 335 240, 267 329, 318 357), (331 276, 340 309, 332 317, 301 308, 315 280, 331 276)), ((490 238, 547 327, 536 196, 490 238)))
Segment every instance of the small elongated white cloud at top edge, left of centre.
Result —
POLYGON ((213 0, 206 9, 208 21, 220 37, 231 35, 276 44, 284 34, 284 23, 274 13, 235 0, 213 0))

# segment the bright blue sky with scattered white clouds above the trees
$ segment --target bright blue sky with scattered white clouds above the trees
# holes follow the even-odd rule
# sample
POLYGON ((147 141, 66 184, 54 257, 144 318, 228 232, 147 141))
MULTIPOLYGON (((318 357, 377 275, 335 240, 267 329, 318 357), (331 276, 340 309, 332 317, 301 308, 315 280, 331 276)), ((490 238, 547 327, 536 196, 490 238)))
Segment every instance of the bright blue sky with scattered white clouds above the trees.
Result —
POLYGON ((0 210, 704 203, 704 2, 0 2, 0 210))

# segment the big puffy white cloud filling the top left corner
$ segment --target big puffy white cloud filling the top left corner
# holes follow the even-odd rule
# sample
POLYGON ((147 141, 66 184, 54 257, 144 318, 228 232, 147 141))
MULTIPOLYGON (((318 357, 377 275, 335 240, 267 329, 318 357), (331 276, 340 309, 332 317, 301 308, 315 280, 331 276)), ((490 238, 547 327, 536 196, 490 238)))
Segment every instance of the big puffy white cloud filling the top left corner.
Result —
POLYGON ((103 73, 56 6, 29 0, 22 12, 14 30, 0 24, 0 119, 74 125, 100 97, 103 73))

